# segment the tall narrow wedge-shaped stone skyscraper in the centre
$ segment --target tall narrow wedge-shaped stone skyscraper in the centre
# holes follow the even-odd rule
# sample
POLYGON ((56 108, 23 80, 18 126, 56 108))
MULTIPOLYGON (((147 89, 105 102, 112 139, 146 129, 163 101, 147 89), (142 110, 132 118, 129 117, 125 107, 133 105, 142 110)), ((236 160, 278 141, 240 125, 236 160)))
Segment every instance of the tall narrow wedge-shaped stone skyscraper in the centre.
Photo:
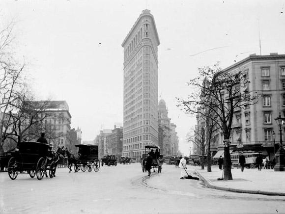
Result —
POLYGON ((158 58, 153 15, 143 10, 124 48, 123 156, 140 158, 145 145, 158 145, 158 58))

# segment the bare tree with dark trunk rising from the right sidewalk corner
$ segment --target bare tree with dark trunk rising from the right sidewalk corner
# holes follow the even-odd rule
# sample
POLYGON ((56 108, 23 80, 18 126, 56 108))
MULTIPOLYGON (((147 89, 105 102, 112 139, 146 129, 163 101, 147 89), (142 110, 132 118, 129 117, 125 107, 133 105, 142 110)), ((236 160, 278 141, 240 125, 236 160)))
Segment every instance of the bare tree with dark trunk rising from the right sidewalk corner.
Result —
POLYGON ((237 108, 248 107, 258 102, 257 92, 247 89, 248 78, 246 71, 223 72, 218 64, 199 68, 197 78, 190 80, 188 85, 196 91, 187 99, 178 99, 178 107, 190 114, 201 114, 215 121, 224 135, 224 179, 232 180, 231 160, 229 153, 229 137, 233 112, 237 108), (207 109, 211 114, 206 114, 207 109), (206 110, 206 111, 205 111, 206 110))

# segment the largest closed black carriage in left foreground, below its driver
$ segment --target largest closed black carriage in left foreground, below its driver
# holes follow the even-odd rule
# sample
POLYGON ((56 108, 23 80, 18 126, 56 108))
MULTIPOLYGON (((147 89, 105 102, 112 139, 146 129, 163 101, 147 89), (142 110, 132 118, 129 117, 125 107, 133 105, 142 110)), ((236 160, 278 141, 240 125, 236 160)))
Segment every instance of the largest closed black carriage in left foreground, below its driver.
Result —
POLYGON ((49 145, 39 142, 20 142, 14 152, 9 155, 8 175, 10 179, 17 178, 19 172, 27 171, 33 178, 41 180, 49 170, 50 178, 55 176, 57 164, 48 156, 49 145))

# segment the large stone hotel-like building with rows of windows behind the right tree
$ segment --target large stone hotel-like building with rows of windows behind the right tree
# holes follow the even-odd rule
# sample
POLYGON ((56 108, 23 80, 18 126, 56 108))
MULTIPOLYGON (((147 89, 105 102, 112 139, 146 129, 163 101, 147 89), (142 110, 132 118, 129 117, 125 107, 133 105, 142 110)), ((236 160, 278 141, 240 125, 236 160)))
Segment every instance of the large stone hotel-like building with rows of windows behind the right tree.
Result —
MULTIPOLYGON (((240 90, 260 94, 258 103, 236 109, 233 115, 230 137, 230 151, 261 152, 272 158, 276 152, 274 140, 279 143, 279 126, 274 118, 279 112, 285 117, 285 54, 252 54, 249 57, 225 68, 223 72, 242 69, 248 85, 240 90), (274 133, 275 139, 274 139, 274 133)), ((284 127, 282 138, 284 140, 284 127)), ((212 149, 217 151, 214 157, 223 155, 222 132, 217 132, 212 149)))

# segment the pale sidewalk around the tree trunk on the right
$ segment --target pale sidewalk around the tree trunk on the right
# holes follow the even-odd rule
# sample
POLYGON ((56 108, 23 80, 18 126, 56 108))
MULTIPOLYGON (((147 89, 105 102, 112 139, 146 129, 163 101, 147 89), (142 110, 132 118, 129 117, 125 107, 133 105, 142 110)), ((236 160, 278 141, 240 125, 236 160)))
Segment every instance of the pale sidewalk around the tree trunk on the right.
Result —
MULTIPOLYGON (((192 167, 191 167, 192 168, 192 167)), ((230 181, 218 181, 222 177, 222 170, 218 166, 211 166, 212 172, 207 172, 207 166, 201 170, 201 166, 196 166, 195 171, 205 182, 207 187, 265 195, 283 195, 285 196, 285 172, 275 172, 274 169, 255 169, 236 167, 231 169, 232 179, 230 181)))

